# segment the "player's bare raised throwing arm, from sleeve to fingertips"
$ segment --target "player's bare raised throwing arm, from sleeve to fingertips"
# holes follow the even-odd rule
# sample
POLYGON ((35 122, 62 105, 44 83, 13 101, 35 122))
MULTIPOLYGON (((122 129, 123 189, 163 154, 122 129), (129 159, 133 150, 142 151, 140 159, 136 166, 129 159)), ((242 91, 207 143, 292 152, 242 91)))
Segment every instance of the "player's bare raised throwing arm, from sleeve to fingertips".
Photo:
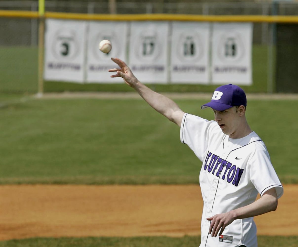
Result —
POLYGON ((179 106, 173 100, 152 91, 150 88, 139 82, 131 72, 131 69, 119 58, 111 59, 120 67, 120 69, 108 70, 109 72, 117 72, 117 74, 113 74, 111 77, 122 77, 124 82, 134 88, 151 107, 180 127, 184 112, 181 111, 179 106))

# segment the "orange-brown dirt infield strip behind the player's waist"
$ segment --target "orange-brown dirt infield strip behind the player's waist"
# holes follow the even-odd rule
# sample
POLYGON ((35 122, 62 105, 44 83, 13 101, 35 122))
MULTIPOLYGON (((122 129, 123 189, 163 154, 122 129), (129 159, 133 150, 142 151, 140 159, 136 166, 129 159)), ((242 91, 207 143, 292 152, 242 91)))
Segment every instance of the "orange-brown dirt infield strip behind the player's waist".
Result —
MULTIPOLYGON (((255 217, 259 235, 297 235, 297 192, 286 185, 277 211, 255 217)), ((0 240, 200 234, 197 185, 3 185, 0 196, 0 240)))

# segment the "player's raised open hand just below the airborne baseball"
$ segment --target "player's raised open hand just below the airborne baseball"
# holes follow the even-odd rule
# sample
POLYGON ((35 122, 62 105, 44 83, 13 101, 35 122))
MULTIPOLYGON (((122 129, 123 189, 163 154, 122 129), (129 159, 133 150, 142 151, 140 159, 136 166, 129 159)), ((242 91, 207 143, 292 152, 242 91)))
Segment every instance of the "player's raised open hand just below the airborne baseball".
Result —
POLYGON ((138 79, 134 76, 134 74, 131 72, 131 69, 126 65, 125 62, 123 62, 119 58, 111 58, 114 63, 117 63, 120 69, 109 69, 109 72, 117 72, 117 74, 112 74, 111 77, 122 77, 125 83, 127 83, 129 86, 134 87, 138 83, 138 79))

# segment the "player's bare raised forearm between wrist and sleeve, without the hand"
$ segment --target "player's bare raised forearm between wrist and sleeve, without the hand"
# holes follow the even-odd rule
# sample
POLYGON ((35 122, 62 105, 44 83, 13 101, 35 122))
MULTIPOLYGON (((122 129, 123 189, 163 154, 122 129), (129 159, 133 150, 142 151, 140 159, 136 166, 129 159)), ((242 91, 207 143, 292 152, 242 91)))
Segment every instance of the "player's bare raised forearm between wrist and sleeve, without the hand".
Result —
POLYGON ((160 114, 166 116, 172 122, 176 122, 174 119, 175 112, 182 111, 173 100, 151 90, 139 81, 133 86, 133 88, 152 108, 154 108, 160 114))

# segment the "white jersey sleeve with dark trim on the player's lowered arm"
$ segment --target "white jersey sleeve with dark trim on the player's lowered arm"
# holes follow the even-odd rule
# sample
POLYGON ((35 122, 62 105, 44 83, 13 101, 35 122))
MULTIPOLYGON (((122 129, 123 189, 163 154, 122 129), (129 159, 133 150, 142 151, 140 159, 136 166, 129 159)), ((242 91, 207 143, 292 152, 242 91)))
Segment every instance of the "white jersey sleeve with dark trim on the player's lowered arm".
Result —
POLYGON ((261 196, 271 188, 275 188, 277 198, 283 195, 283 186, 271 164, 268 151, 264 145, 257 145, 249 161, 250 180, 261 196))

